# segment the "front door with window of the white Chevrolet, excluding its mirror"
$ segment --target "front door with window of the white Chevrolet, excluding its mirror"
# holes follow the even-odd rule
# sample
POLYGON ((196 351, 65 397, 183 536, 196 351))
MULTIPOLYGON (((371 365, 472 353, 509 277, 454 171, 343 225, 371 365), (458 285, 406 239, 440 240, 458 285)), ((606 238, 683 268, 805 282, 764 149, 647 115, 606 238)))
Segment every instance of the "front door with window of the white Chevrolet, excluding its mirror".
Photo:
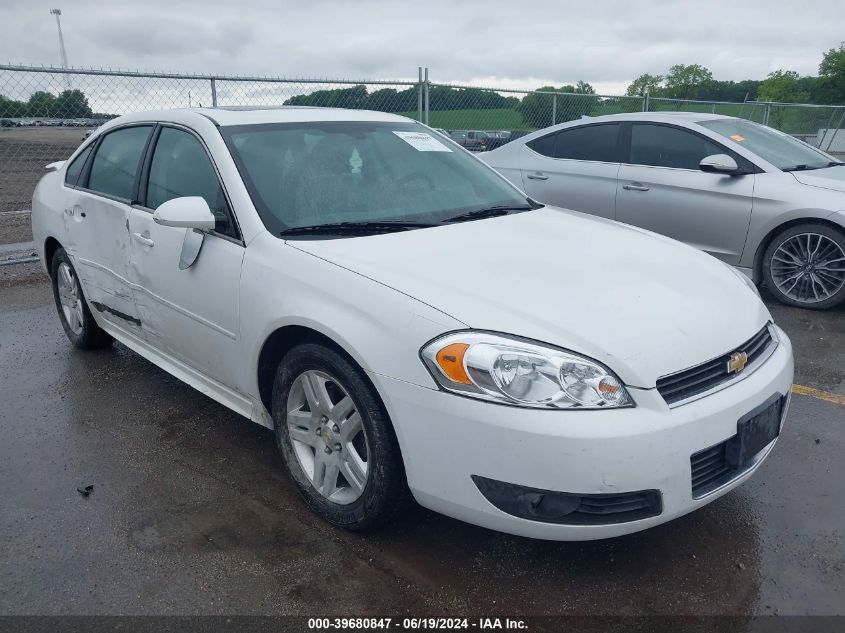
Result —
MULTIPOLYGON (((244 246, 214 162, 193 131, 162 126, 154 134, 141 177, 139 204, 129 217, 129 279, 148 342, 170 357, 227 385, 238 350, 238 292, 244 246), (203 232, 193 264, 181 269, 192 229, 161 226, 153 211, 183 196, 201 196, 217 218, 203 232)), ((195 236, 191 235, 191 238, 195 236)))

